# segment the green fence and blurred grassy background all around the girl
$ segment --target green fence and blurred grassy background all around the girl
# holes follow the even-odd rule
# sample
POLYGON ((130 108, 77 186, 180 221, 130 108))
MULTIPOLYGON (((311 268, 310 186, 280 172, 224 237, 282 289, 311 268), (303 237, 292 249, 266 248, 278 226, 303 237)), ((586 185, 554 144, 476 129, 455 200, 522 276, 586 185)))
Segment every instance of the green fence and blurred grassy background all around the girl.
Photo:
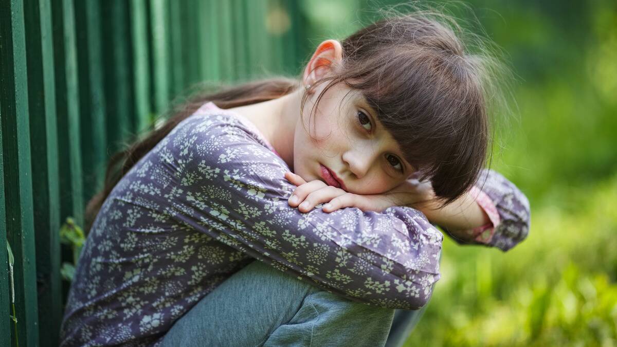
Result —
MULTIPOLYGON (((57 341, 84 206, 123 143, 191 91, 299 75, 318 43, 401 3, 0 0, 0 304, 17 317, 0 345, 57 341)), ((532 225, 507 253, 446 240, 407 345, 617 345, 617 2, 430 4, 505 52, 491 167, 532 225)))

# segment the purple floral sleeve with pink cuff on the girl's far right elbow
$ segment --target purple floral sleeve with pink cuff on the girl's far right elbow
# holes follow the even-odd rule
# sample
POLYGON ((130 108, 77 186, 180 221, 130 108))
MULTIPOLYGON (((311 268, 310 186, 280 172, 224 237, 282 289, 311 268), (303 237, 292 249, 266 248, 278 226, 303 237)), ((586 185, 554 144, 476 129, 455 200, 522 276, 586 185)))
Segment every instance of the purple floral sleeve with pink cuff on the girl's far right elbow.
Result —
POLYGON ((470 230, 477 235, 465 242, 451 235, 461 245, 485 245, 508 251, 523 241, 531 223, 529 201, 516 186, 494 170, 482 170, 471 194, 489 215, 491 225, 470 230))

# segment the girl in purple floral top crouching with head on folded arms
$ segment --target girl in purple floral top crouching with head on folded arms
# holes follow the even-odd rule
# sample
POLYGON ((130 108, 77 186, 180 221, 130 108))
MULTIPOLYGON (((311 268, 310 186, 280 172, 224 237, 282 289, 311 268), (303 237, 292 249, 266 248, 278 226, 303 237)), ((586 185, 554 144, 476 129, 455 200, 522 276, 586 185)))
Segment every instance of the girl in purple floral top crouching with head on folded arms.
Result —
POLYGON ((483 62, 400 15, 323 41, 300 81, 194 99, 112 158, 62 345, 384 345, 439 280, 431 222, 503 251, 528 233, 482 170, 483 62))

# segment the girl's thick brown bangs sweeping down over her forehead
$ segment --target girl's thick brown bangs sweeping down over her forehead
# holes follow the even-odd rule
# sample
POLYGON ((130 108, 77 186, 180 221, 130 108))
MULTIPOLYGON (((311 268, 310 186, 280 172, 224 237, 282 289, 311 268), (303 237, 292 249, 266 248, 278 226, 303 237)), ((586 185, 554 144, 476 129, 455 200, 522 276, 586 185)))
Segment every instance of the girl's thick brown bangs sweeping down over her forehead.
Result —
POLYGON ((484 98, 456 57, 434 49, 375 54, 343 79, 360 91, 404 153, 446 202, 465 193, 484 165, 484 98), (368 66, 371 66, 368 69, 368 66))

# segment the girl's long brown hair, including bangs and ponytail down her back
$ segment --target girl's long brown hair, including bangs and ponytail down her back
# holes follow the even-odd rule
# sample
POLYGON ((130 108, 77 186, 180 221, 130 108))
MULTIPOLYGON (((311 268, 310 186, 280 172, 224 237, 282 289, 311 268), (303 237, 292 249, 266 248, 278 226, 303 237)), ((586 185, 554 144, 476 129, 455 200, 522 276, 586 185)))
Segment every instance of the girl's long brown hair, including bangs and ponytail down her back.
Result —
MULTIPOLYGON (((342 61, 311 88, 336 83, 360 91, 379 121, 399 143, 405 159, 431 180, 443 204, 461 196, 478 179, 491 136, 489 101, 499 99, 491 72, 499 62, 474 40, 466 51, 462 30, 451 17, 428 11, 390 15, 342 40, 342 61), (458 34, 458 35, 457 35, 458 34)), ((276 77, 198 94, 170 111, 162 127, 115 154, 104 188, 86 207, 88 228, 120 178, 182 120, 207 101, 228 109, 279 98, 300 85, 299 78, 276 77)), ((302 106, 307 101, 304 93, 302 106)), ((313 110, 315 107, 313 107, 313 110)))

